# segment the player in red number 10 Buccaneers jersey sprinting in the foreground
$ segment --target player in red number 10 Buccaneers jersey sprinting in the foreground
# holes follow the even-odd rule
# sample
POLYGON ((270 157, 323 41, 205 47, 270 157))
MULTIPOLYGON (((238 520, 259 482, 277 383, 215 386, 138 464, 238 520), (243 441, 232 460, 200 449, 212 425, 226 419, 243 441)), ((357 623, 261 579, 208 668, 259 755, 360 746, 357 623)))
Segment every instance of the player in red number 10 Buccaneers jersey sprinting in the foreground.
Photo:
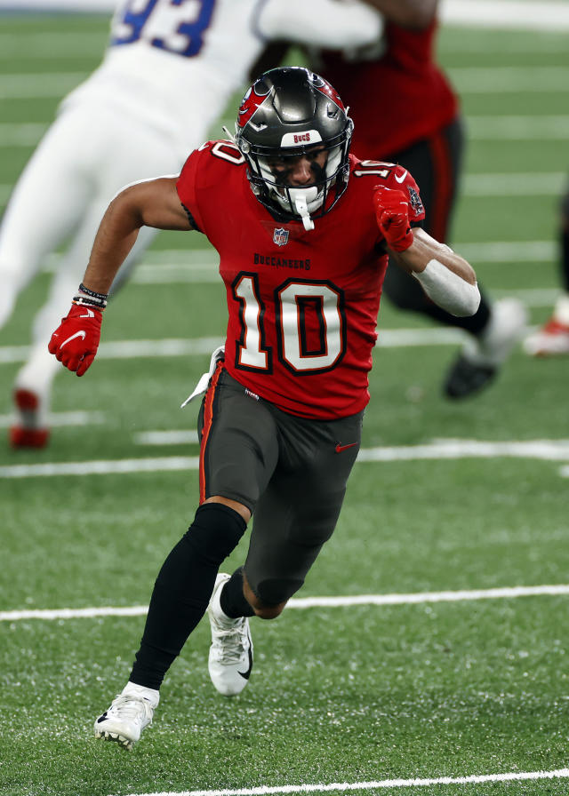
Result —
POLYGON ((333 87, 304 68, 260 76, 234 141, 209 141, 178 178, 127 187, 110 203, 50 351, 83 375, 108 288, 141 227, 195 229, 220 254, 225 351, 200 410, 200 500, 156 579, 123 692, 97 737, 131 747, 158 689, 207 610, 209 672, 226 696, 252 670, 248 617, 273 618, 332 535, 369 399, 388 253, 449 312, 473 314, 469 264, 417 225, 413 176, 350 155, 353 123, 333 87), (255 514, 244 566, 218 574, 255 514))

